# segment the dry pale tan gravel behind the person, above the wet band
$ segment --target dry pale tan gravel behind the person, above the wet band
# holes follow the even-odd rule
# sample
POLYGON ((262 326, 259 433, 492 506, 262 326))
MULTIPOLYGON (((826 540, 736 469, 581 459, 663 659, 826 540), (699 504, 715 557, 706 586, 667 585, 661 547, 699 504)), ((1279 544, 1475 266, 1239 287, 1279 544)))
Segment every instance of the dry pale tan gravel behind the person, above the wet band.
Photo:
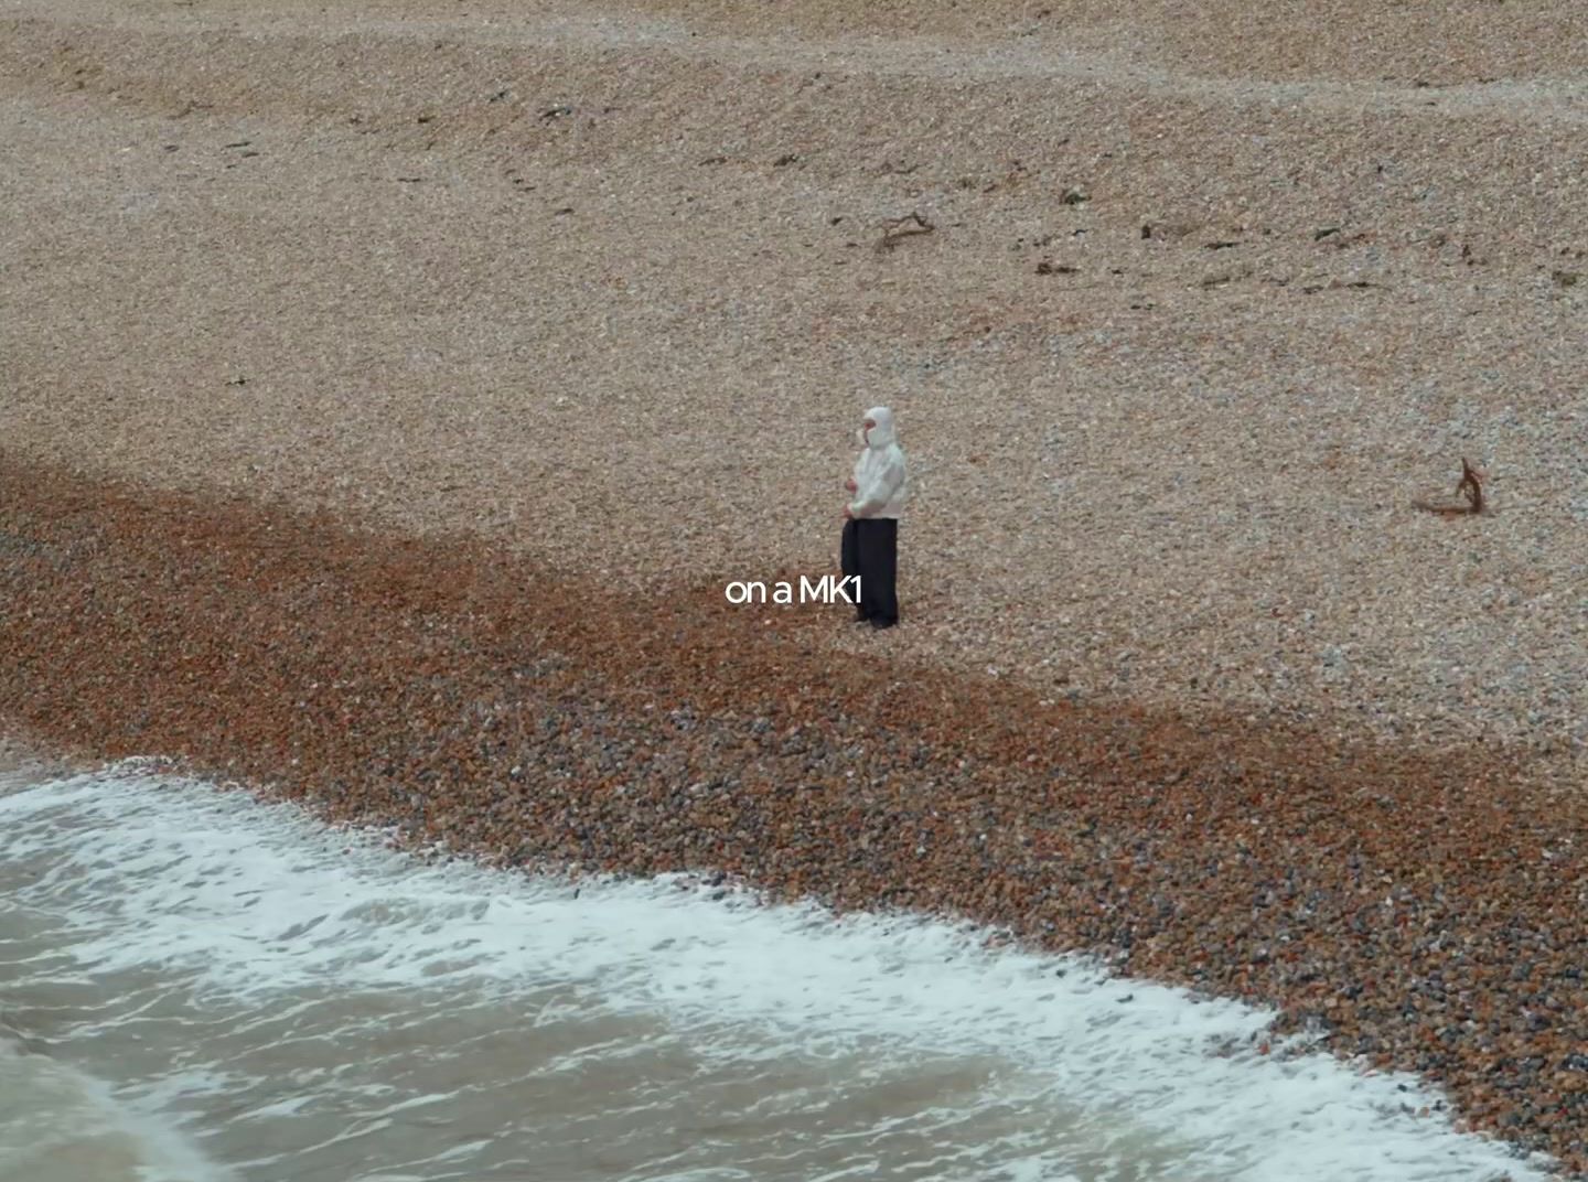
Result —
POLYGON ((1256 17, 1242 81, 1202 21, 1099 57, 1100 10, 14 3, 0 437, 656 596, 831 570, 888 402, 891 651, 1580 782, 1582 40, 1363 79, 1370 8, 1301 84, 1256 17), (1491 512, 1415 508, 1463 456, 1491 512))

